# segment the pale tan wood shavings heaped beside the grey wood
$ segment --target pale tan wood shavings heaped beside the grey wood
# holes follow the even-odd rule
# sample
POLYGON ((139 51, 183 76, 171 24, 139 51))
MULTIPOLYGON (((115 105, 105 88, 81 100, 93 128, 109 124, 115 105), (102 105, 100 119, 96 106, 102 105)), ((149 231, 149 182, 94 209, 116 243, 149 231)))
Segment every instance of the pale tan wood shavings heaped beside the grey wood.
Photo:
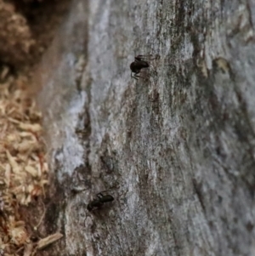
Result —
POLYGON ((43 196, 48 184, 42 115, 34 100, 27 98, 26 87, 26 77, 14 79, 8 76, 8 68, 3 69, 0 74, 0 256, 34 254, 35 246, 19 208, 29 205, 33 197, 43 196))

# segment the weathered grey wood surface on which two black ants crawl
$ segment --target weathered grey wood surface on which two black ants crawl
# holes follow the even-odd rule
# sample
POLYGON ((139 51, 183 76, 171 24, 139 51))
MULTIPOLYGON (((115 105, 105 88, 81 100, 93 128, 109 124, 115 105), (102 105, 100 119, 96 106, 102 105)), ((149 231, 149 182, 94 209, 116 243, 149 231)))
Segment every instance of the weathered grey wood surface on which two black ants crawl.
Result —
POLYGON ((73 2, 40 67, 41 231, 65 234, 43 255, 255 255, 254 22, 248 0, 73 2))

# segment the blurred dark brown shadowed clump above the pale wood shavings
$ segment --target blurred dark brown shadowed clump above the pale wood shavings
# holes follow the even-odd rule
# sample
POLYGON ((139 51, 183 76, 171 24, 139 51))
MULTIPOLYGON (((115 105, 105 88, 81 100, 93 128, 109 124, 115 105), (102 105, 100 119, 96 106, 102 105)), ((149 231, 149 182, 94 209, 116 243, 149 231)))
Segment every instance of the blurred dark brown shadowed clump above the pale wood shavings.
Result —
POLYGON ((24 71, 37 64, 70 2, 0 0, 0 71, 4 66, 24 71))

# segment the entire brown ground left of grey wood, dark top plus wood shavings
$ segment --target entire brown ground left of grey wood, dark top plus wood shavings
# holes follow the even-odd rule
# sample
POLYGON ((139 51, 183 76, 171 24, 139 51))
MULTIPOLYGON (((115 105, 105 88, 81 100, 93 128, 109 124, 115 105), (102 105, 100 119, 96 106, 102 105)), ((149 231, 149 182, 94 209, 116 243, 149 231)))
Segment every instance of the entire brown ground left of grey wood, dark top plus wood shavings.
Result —
MULTIPOLYGON (((31 94, 34 66, 71 0, 0 0, 0 255, 35 255, 48 184, 42 114, 31 94)), ((43 240, 42 238, 46 238, 43 240)), ((48 239, 48 240, 47 240, 48 239)))

